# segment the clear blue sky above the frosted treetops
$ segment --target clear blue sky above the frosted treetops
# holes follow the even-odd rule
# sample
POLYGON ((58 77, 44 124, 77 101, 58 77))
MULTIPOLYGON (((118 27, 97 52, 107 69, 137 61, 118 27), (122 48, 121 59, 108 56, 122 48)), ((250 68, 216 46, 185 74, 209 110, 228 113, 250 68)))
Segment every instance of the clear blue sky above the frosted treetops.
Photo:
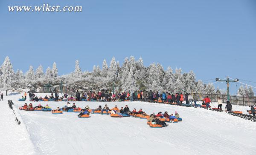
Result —
POLYGON ((76 59, 90 71, 104 58, 109 63, 114 56, 122 63, 134 55, 143 57, 146 66, 159 62, 165 69, 193 70, 197 79, 229 75, 256 81, 256 2, 1 0, 0 62, 6 55, 23 72, 40 64, 45 71, 55 61, 62 75, 73 71, 76 59), (83 6, 83 11, 17 13, 7 7, 44 3, 83 6))

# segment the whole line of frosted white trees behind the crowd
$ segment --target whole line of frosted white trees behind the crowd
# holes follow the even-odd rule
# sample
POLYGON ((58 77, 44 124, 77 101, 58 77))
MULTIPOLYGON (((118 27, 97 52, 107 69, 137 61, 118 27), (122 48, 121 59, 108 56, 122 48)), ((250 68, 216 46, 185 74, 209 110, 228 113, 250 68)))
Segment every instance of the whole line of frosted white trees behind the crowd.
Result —
POLYGON ((173 69, 169 66, 165 71, 159 63, 151 63, 144 66, 143 59, 135 60, 133 56, 126 57, 122 66, 119 61, 112 58, 109 66, 103 60, 102 68, 93 66, 92 72, 82 72, 79 60, 76 60, 75 70, 67 75, 58 76, 58 68, 54 62, 52 68, 48 67, 44 72, 41 65, 34 70, 23 74, 21 70, 13 71, 9 57, 6 57, 0 68, 0 87, 7 89, 40 88, 45 84, 72 86, 76 89, 94 90, 105 89, 109 83, 115 82, 121 86, 122 91, 154 90, 168 92, 199 92, 216 93, 212 83, 204 84, 202 80, 196 81, 193 71, 183 73, 181 69, 173 69), (6 82, 7 80, 7 82, 6 82))

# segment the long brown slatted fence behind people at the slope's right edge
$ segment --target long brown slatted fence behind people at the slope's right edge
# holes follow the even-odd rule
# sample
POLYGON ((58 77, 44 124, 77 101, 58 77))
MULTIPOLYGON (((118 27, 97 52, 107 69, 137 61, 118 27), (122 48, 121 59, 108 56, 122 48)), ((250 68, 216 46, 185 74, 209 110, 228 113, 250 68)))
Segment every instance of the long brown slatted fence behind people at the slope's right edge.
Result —
MULTIPOLYGON (((226 102, 227 95, 223 94, 199 94, 196 93, 198 98, 203 100, 207 96, 213 101, 217 102, 218 97, 222 99, 223 102, 226 102)), ((239 106, 254 106, 256 105, 256 97, 255 96, 232 96, 230 95, 230 103, 236 104, 239 106)))

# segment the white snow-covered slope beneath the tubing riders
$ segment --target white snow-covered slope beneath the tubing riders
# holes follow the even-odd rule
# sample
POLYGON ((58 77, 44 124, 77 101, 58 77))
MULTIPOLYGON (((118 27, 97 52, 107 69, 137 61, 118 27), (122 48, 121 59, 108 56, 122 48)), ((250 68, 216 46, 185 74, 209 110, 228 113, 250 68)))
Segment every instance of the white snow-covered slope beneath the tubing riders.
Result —
MULTIPOLYGON (((256 154, 256 123, 225 112, 146 102, 74 102, 82 108, 89 105, 91 109, 105 104, 110 108, 128 104, 130 109, 142 108, 148 114, 177 111, 183 118, 182 122, 154 129, 140 118, 91 114, 91 118, 79 119, 78 113, 52 115, 51 112, 21 111, 18 107, 25 102, 17 101, 20 96, 8 96, 3 101, 0 154, 256 154), (15 103, 16 115, 21 118, 19 126, 7 99, 15 103)), ((66 103, 41 102, 52 109, 66 103)), ((245 113, 249 108, 233 106, 233 109, 245 113)))

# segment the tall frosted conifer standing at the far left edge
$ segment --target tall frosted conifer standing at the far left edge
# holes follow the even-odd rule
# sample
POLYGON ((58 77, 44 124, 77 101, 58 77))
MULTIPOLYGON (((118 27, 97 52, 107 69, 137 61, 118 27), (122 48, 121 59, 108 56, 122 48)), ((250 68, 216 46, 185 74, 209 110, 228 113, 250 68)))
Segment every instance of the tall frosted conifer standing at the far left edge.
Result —
POLYGON ((3 86, 3 89, 6 90, 6 96, 7 96, 7 92, 11 88, 11 84, 13 80, 12 78, 14 75, 12 63, 8 56, 5 58, 3 65, 1 66, 1 72, 2 72, 2 75, 1 75, 2 86, 3 86))

